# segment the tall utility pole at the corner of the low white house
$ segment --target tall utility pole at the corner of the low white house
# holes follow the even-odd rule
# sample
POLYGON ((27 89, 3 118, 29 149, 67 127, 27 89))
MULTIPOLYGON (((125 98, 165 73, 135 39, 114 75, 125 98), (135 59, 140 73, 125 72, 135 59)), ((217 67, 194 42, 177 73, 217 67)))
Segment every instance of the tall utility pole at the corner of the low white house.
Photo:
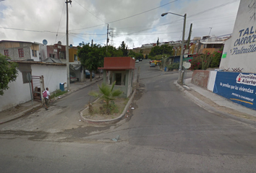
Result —
POLYGON ((66 30, 66 37, 67 37, 67 45, 66 45, 66 60, 67 60, 67 90, 70 90, 70 77, 69 77, 69 6, 72 1, 66 0, 67 4, 67 30, 66 30))

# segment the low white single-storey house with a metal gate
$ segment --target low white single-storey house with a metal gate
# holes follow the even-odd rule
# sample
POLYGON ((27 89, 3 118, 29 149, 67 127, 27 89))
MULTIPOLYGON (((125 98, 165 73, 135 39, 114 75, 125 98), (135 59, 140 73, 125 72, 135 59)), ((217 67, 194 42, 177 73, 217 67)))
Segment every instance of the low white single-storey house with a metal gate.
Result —
POLYGON ((59 89, 60 83, 67 82, 67 66, 65 63, 14 62, 18 63, 18 76, 16 81, 8 84, 9 89, 4 90, 4 95, 0 96, 0 111, 31 100, 27 74, 32 75, 33 97, 38 99, 39 102, 42 100, 41 92, 46 87, 48 87, 49 92, 54 92, 59 89))

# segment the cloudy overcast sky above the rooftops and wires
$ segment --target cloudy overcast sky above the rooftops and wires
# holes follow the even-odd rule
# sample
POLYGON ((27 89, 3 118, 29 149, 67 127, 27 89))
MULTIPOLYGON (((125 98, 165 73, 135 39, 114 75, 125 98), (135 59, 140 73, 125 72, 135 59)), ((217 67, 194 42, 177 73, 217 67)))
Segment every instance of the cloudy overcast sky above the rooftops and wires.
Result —
MULTIPOLYGON (((0 40, 17 40, 66 45, 66 0, 0 0, 0 40)), ((228 35, 233 32, 239 0, 72 0, 69 4, 69 44, 110 44, 121 41, 129 48, 142 44, 182 40, 187 13, 186 35, 190 24, 192 38, 228 35)))

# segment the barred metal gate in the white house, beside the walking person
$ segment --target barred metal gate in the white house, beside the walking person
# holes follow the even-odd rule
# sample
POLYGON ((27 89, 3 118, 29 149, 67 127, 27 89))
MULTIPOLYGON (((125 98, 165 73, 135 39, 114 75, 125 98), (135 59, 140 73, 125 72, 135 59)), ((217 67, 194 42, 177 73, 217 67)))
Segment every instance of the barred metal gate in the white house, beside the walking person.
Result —
POLYGON ((33 99, 43 103, 44 81, 43 76, 32 76, 33 99))

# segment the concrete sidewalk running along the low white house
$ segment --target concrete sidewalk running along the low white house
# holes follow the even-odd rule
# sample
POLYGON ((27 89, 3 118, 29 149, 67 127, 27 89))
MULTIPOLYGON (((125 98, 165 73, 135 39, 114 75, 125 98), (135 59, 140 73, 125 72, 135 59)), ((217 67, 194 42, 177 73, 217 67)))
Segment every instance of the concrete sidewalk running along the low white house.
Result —
MULTIPOLYGON (((63 98, 69 94, 72 94, 73 92, 76 92, 79 89, 85 88, 87 86, 90 86, 92 84, 95 84, 97 81, 101 81, 103 79, 103 75, 99 77, 98 74, 95 74, 95 78, 93 81, 90 81, 90 79, 86 79, 85 81, 76 81, 70 84, 70 91, 61 95, 60 98, 63 98)), ((52 100, 57 100, 59 98, 55 98, 52 100)), ((15 107, 12 107, 8 110, 4 110, 0 112, 0 124, 1 123, 7 123, 11 120, 14 120, 18 117, 21 117, 22 115, 25 115, 27 112, 33 112, 34 110, 37 110, 38 108, 43 107, 42 102, 25 102, 20 105, 17 105, 15 107)))

